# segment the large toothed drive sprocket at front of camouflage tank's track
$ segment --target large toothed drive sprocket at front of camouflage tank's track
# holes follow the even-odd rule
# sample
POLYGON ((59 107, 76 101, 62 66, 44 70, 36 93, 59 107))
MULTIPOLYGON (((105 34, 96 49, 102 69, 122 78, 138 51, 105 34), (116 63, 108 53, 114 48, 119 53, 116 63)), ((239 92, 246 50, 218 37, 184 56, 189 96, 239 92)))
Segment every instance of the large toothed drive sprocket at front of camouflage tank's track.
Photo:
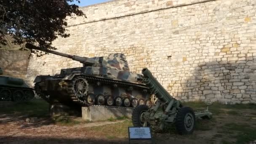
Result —
POLYGON ((81 76, 75 77, 73 80, 73 88, 75 91, 75 95, 82 101, 84 101, 85 96, 88 91, 88 83, 87 80, 81 76))

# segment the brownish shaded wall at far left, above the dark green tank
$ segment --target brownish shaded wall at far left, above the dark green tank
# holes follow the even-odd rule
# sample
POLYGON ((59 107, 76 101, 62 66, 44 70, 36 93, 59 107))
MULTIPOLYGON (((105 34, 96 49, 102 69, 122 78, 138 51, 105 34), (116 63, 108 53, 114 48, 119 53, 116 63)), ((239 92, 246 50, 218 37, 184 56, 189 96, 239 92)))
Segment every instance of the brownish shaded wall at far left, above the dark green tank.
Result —
POLYGON ((29 51, 0 50, 0 67, 4 75, 26 79, 29 54, 29 51))

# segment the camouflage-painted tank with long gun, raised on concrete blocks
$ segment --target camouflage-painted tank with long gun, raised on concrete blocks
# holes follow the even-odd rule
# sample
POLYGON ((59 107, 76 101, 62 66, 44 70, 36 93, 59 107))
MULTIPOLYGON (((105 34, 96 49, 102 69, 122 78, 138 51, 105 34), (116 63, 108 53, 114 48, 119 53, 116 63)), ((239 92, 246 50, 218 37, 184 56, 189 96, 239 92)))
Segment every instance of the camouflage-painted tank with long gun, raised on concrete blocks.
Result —
POLYGON ((152 105, 149 88, 141 82, 142 75, 129 71, 128 62, 122 53, 87 58, 39 48, 29 43, 26 48, 64 56, 83 64, 83 67, 61 69, 58 75, 39 75, 35 78, 37 95, 49 103, 111 107, 152 105))

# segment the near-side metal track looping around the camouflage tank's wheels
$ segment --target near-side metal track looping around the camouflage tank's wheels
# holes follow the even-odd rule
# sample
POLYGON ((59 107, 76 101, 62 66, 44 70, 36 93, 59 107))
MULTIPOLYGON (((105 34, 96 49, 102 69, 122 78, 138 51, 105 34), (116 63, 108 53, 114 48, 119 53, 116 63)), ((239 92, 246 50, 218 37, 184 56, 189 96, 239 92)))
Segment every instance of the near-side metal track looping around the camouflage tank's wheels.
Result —
MULTIPOLYGON (((128 88, 130 86, 134 87, 134 88, 138 88, 138 89, 147 89, 149 91, 149 88, 147 86, 144 86, 144 85, 140 85, 140 84, 135 84, 135 83, 129 83, 129 82, 123 82, 123 81, 118 81, 118 80, 109 80, 109 79, 105 79, 105 78, 99 78, 99 77, 90 77, 90 76, 85 76, 85 75, 81 75, 82 77, 84 77, 86 80, 88 80, 88 83, 90 82, 95 82, 95 81, 98 81, 100 83, 103 83, 103 84, 117 84, 118 86, 122 86, 122 87, 125 87, 125 88, 128 88)), ((74 88, 73 88, 73 85, 72 83, 70 83, 72 81, 69 81, 69 84, 68 84, 68 93, 69 93, 69 96, 71 97, 72 101, 76 104, 80 104, 81 106, 93 106, 93 107, 114 107, 114 108, 131 108, 133 109, 132 107, 117 107, 117 106, 104 106, 104 105, 91 105, 91 104, 87 104, 85 101, 81 101, 74 93, 74 88)))

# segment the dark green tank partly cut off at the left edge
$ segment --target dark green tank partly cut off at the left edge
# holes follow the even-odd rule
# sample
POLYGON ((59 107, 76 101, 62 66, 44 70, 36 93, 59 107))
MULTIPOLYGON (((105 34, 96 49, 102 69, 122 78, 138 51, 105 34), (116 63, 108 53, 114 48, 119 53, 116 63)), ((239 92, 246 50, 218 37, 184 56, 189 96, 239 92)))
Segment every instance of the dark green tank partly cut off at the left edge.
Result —
MULTIPOLYGON (((0 75, 3 75, 1 68, 0 75)), ((33 89, 29 88, 24 80, 0 76, 0 101, 28 101, 34 97, 33 89)))

